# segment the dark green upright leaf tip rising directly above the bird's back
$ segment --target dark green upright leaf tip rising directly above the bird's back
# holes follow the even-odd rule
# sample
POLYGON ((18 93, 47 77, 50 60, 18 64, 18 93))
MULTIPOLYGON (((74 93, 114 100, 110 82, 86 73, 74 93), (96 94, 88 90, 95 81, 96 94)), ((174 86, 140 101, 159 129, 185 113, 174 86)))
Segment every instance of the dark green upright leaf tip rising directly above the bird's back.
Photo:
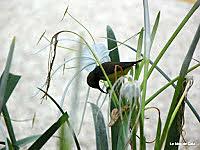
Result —
POLYGON ((108 42, 108 49, 112 50, 110 52, 110 58, 113 62, 120 62, 119 52, 117 48, 117 42, 115 41, 115 34, 110 26, 107 26, 107 42, 108 42))

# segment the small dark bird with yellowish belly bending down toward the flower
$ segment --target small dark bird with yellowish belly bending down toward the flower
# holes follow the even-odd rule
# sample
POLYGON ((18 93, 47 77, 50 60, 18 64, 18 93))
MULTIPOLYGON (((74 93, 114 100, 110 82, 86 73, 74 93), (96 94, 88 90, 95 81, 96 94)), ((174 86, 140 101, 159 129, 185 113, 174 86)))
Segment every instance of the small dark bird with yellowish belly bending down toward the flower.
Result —
MULTIPOLYGON (((107 74, 109 80, 111 83, 114 83, 114 81, 123 76, 126 75, 129 70, 134 66, 135 64, 141 62, 141 60, 138 61, 132 61, 132 62, 104 62, 102 63, 102 67, 105 70, 105 73, 107 74)), ((99 86, 99 81, 104 80, 106 81, 106 78, 100 68, 100 66, 96 66, 94 70, 92 70, 88 76, 87 76, 87 84, 92 87, 100 90, 103 93, 108 93, 103 91, 99 86)))

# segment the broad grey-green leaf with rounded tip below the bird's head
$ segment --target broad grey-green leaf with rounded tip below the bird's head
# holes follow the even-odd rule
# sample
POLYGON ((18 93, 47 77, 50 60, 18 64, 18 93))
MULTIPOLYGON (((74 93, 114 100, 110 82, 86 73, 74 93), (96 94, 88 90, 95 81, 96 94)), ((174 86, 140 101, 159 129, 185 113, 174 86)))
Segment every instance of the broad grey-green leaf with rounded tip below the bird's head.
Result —
POLYGON ((106 126, 103 115, 99 107, 93 103, 90 103, 92 107, 93 120, 96 133, 96 149, 108 150, 108 139, 106 133, 106 126))

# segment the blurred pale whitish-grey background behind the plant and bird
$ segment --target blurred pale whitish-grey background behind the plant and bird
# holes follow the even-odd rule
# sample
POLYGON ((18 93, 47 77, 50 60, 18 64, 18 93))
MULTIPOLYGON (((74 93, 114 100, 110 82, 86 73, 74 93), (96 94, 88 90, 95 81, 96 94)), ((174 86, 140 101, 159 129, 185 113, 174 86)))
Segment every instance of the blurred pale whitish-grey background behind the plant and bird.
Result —
MULTIPOLYGON (((50 39, 53 34, 60 30, 72 30, 81 33, 92 44, 91 38, 87 32, 68 15, 61 21, 65 9, 69 5, 69 12, 90 30, 96 42, 104 43, 106 40, 101 38, 106 36, 106 26, 110 25, 119 41, 124 41, 136 34, 143 27, 143 5, 141 0, 11 0, 0 1, 0 72, 5 66, 9 45, 13 36, 16 36, 16 47, 13 58, 12 72, 22 75, 12 97, 7 103, 12 119, 24 120, 32 119, 36 113, 36 121, 32 127, 31 121, 13 122, 18 139, 33 134, 43 133, 50 125, 56 121, 57 108, 51 101, 43 101, 42 94, 35 96, 37 87, 41 87, 47 76, 47 61, 49 47, 48 41, 42 39, 37 45, 42 33, 46 30, 46 36, 50 39), (44 49, 43 49, 44 48, 44 49), (43 49, 40 53, 37 51, 43 49)), ((170 38, 178 24, 182 21, 186 13, 193 5, 193 1, 185 0, 151 0, 149 1, 150 19, 153 24, 158 11, 161 11, 160 24, 155 37, 155 42, 151 51, 151 59, 154 60, 158 52, 170 38)), ((159 66, 171 77, 175 77, 179 71, 186 52, 189 49, 194 33, 200 23, 200 9, 190 18, 178 37, 174 40, 168 51, 163 56, 159 66)), ((75 36, 65 35, 65 38, 78 40, 75 36)), ((69 41, 62 42, 66 47, 77 48, 77 44, 69 41)), ((129 40, 128 44, 137 46, 137 38, 129 40)), ((120 56, 122 61, 135 60, 135 54, 121 46, 120 56)), ((74 52, 65 49, 59 49, 56 57, 56 66, 63 63, 64 58, 70 59, 74 52)), ((197 46, 194 58, 200 60, 200 43, 197 46)), ((195 62, 193 61, 192 64, 195 62)), ((73 63, 72 63, 73 64, 73 63)), ((71 66, 69 64, 69 66, 71 66)), ((74 70, 59 71, 53 78, 49 93, 57 100, 61 99, 63 90, 68 81, 73 77, 74 70)), ((194 84, 191 88, 188 99, 200 113, 200 69, 192 72, 194 84)), ((80 118, 86 96, 86 76, 87 72, 82 73, 80 103, 78 117, 80 118)), ((148 95, 154 93, 166 80, 156 71, 152 74, 148 83, 148 95)), ((169 109, 170 100, 173 96, 173 88, 168 88, 163 94, 156 98, 151 106, 161 109, 163 120, 166 118, 169 109)), ((95 102, 97 90, 91 90, 89 101, 95 102)), ((67 94, 64 108, 70 110, 70 99, 73 96, 73 84, 67 94)), ((102 109, 106 114, 106 105, 102 109)), ((200 127, 199 122, 194 117, 188 106, 186 106, 185 117, 185 138, 188 142, 194 142, 196 145, 188 149, 200 149, 200 127)), ((154 139, 155 133, 152 124, 155 123, 156 114, 154 111, 148 111, 147 139, 154 139), (154 114, 154 115, 153 115, 154 114)), ((156 127, 155 127, 156 128, 156 127)), ((0 135, 1 138, 1 135, 0 135)), ((83 127, 78 136, 81 146, 86 150, 95 149, 95 133, 90 107, 87 107, 86 117, 83 127)), ((51 140, 43 149, 56 149, 57 138, 51 140)), ((151 145, 149 146, 151 149, 151 145)), ((186 148, 181 148, 186 149, 186 148)))

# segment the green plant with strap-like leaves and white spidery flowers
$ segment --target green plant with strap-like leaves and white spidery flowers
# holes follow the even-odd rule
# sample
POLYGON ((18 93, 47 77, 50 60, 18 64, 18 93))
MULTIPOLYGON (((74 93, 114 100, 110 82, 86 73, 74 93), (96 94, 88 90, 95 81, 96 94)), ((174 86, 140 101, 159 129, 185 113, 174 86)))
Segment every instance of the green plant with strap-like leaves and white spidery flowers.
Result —
MULTIPOLYGON (((106 50, 106 52, 102 54, 103 55, 102 57, 99 56, 101 55, 101 52, 98 53, 96 50, 100 45, 97 46, 89 30, 85 28, 85 26, 83 26, 76 18, 74 18, 68 12, 67 8, 64 13, 63 19, 65 15, 68 14, 73 20, 75 20, 79 25, 81 25, 84 29, 86 29, 88 34, 91 36, 94 45, 91 46, 89 42, 86 41, 86 39, 82 35, 73 31, 67 31, 67 30, 59 31, 52 37, 52 39, 49 41, 51 55, 49 55, 50 58, 48 62, 49 68, 46 80, 47 83, 46 89, 43 90, 42 88, 39 88, 39 90, 42 93, 44 93, 44 97, 49 98, 55 104, 55 106, 61 113, 61 116, 59 116, 58 120, 55 123, 53 123, 51 127, 48 128, 43 134, 33 135, 21 140, 17 140, 17 138, 15 137, 14 129, 12 127, 12 122, 6 106, 6 102, 8 101, 11 93, 13 92, 15 86, 17 85, 21 77, 18 75, 11 74, 9 72, 15 45, 15 38, 13 38, 12 44, 10 46, 10 52, 7 58, 6 67, 0 79, 0 113, 3 114, 3 118, 5 120, 6 128, 8 130, 8 135, 9 135, 9 137, 4 136, 4 141, 0 142, 0 144, 5 145, 5 147, 2 149, 20 149, 20 147, 30 143, 32 143, 32 145, 30 145, 29 150, 41 149, 43 145, 59 129, 61 129, 60 143, 59 143, 60 150, 72 149, 73 147, 73 144, 71 144, 72 141, 75 142, 75 147, 77 149, 81 149, 81 145, 78 141, 78 134, 81 132, 82 122, 84 119, 85 110, 88 103, 92 108, 93 121, 96 133, 97 150, 107 150, 109 148, 112 148, 113 150, 122 150, 122 149, 128 149, 128 147, 130 147, 131 149, 145 150, 146 143, 148 143, 148 140, 145 137, 145 124, 144 124, 145 111, 149 109, 155 109, 158 112, 158 120, 157 120, 158 122, 154 124, 154 126, 157 126, 156 137, 155 141, 151 142, 154 143, 154 149, 155 150, 160 150, 163 148, 166 150, 178 149, 178 145, 171 145, 171 143, 179 142, 180 140, 181 136, 180 130, 182 129, 183 125, 185 103, 190 107, 191 111, 196 116, 198 121, 200 120, 198 113, 193 108, 192 104, 187 100, 187 93, 190 87, 192 86, 193 82, 193 79, 188 77, 187 74, 197 69, 200 66, 200 64, 197 63, 196 65, 189 68, 190 62, 193 57, 193 53, 200 38, 200 25, 198 26, 198 29, 194 35, 188 53, 185 56, 185 59, 182 63, 180 73, 179 75, 177 75, 176 78, 170 79, 169 76, 161 68, 158 67, 158 63, 161 60, 162 56, 165 54, 165 52, 168 50, 171 43, 177 37, 178 33, 181 31, 183 26, 188 22, 193 13, 198 9, 199 5, 200 1, 197 0, 197 2, 194 4, 194 6, 191 8, 191 10, 183 19, 183 21, 176 28, 175 32, 172 34, 172 36, 167 41, 165 46, 161 49, 155 61, 152 61, 150 59, 150 50, 159 26, 160 12, 158 12, 153 28, 151 30, 147 0, 143 0, 144 27, 141 28, 139 33, 134 35, 134 37, 139 35, 137 49, 134 49, 130 45, 127 45, 125 43, 127 40, 125 40, 124 42, 117 41, 112 28, 110 26, 107 26, 106 39, 107 39, 108 50, 106 50), (55 69, 55 71, 53 71, 54 60, 56 57, 56 50, 58 47, 64 48, 61 45, 59 45, 59 40, 58 40, 58 36, 63 33, 75 35, 80 39, 80 41, 78 41, 79 43, 79 48, 78 48, 79 50, 77 51, 78 55, 70 60, 65 61, 60 67, 58 67, 57 69, 55 69), (83 45, 85 46, 85 49, 82 47, 83 45), (132 68, 129 75, 122 76, 115 82, 112 82, 110 81, 109 76, 106 74, 101 64, 102 61, 105 61, 104 60, 105 58, 106 59, 108 58, 106 61, 110 59, 109 61, 120 62, 120 55, 119 55, 120 45, 127 46, 132 51, 135 51, 136 60, 143 59, 143 61, 141 63, 136 64, 135 69, 132 68), (84 50, 87 50, 88 53, 84 54, 84 50), (57 70, 59 70, 63 66, 65 67, 66 63, 74 59, 78 60, 76 62, 77 71, 74 77, 69 81, 69 84, 67 85, 63 93, 61 104, 58 104, 56 100, 51 95, 48 94, 51 78, 56 73, 57 70), (82 67, 81 65, 84 62, 84 59, 92 61, 90 61, 89 63, 87 62, 86 65, 82 67), (78 131, 76 131, 73 128, 72 123, 70 121, 72 122, 76 121, 76 112, 78 111, 76 106, 79 103, 79 97, 78 97, 79 91, 77 92, 76 90, 79 89, 79 82, 80 82, 79 75, 81 71, 88 69, 92 65, 100 66, 106 78, 106 81, 103 82, 104 85, 103 88, 107 87, 110 89, 108 94, 109 95, 108 117, 110 117, 110 122, 105 121, 103 113, 101 111, 101 107, 104 104, 105 100, 108 100, 107 95, 105 95, 104 101, 101 105, 99 104, 99 99, 100 97, 102 97, 102 93, 99 94, 96 104, 91 103, 88 101, 89 94, 91 92, 89 87, 84 104, 84 111, 82 115, 81 125, 78 131), (146 96, 148 90, 147 83, 149 77, 152 75, 152 72, 155 69, 161 74, 161 76, 163 76, 168 81, 168 83, 163 85, 163 87, 158 89, 157 92, 151 94, 151 96, 147 98, 146 96), (142 71, 144 72, 143 74, 142 71), (78 78, 76 79, 76 77, 78 78), (74 93, 73 104, 72 104, 74 111, 72 112, 72 115, 71 114, 69 115, 67 111, 63 110, 62 106, 64 103, 67 90, 71 85, 72 81, 75 79, 76 82, 74 91, 76 92, 74 93), (141 84, 138 82, 139 79, 142 79, 141 84), (177 84, 175 84, 176 81, 177 84), (161 94, 169 86, 173 86, 175 92, 171 100, 171 105, 167 115, 167 119, 165 122, 162 122, 159 108, 147 107, 147 105, 152 101, 155 101, 156 96, 161 94), (69 118, 71 119, 70 121, 69 118), (111 135, 109 135, 109 130, 111 132, 111 135), (109 142, 109 138, 111 138, 111 144, 109 142), (137 139, 139 140, 139 144, 137 144, 138 143, 137 139)), ((43 37, 45 37, 45 32, 40 37, 40 40, 43 37)), ((65 48, 65 49, 70 49, 70 48, 65 48)), ((2 133, 4 135, 4 131, 1 128, 1 126, 0 129, 2 130, 2 133)))

